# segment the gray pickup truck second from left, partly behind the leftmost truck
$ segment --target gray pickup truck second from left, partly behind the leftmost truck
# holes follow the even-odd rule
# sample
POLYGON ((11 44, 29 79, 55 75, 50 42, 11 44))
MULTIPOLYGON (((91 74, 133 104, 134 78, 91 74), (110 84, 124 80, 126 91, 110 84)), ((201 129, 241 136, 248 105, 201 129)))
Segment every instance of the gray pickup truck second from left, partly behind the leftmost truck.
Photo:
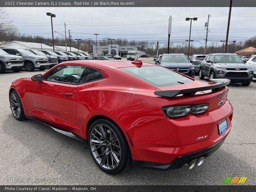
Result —
POLYGON ((5 52, 12 55, 20 55, 24 61, 26 71, 34 71, 35 69, 44 70, 49 67, 48 58, 36 55, 26 49, 2 48, 5 52))

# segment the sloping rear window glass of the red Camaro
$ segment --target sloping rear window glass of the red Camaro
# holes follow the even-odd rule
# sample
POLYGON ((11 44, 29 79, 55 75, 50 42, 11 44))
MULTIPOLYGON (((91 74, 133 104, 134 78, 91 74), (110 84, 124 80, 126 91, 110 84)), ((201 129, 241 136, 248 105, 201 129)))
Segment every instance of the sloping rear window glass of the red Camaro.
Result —
POLYGON ((120 69, 156 87, 192 82, 191 79, 160 66, 125 67, 120 69))

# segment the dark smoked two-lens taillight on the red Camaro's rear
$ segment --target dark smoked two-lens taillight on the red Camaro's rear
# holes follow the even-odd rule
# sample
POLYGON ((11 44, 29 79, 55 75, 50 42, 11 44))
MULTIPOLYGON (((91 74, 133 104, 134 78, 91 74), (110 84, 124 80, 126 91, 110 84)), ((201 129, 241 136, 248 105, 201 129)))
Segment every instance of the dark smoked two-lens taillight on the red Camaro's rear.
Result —
POLYGON ((175 105, 162 107, 166 117, 181 117, 189 113, 193 115, 204 113, 208 110, 208 104, 175 105))

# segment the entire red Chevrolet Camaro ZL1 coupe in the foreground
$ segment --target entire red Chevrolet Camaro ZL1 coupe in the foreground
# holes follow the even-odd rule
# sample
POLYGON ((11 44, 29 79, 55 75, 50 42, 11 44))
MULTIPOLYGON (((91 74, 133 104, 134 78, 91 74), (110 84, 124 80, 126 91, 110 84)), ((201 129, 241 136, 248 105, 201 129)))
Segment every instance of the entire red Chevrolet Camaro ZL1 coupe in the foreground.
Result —
POLYGON ((201 82, 142 61, 66 61, 10 87, 17 120, 34 119, 88 142, 109 174, 131 164, 203 163, 231 129, 228 79, 201 82))

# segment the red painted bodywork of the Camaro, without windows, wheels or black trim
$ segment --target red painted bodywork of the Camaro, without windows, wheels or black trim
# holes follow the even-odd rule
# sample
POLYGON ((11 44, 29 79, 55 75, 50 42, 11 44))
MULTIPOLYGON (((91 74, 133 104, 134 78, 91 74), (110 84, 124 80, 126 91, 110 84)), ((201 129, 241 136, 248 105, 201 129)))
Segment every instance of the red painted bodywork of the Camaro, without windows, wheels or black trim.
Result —
MULTIPOLYGON (((99 69, 104 79, 78 85, 47 80, 38 82, 31 78, 16 80, 10 90, 19 93, 26 116, 76 133, 85 140, 90 119, 108 117, 123 131, 132 159, 162 164, 212 146, 231 129, 233 107, 227 100, 227 87, 197 92, 192 97, 167 98, 155 95, 154 91, 188 89, 212 83, 190 78, 193 82, 155 87, 119 69, 134 66, 130 61, 67 61, 54 68, 67 64, 99 69), (73 95, 65 96, 63 92, 73 95), (221 106, 218 105, 220 100, 223 100, 221 106), (200 103, 209 103, 206 113, 167 118, 162 111, 163 106, 200 103), (219 135, 217 124, 224 119, 227 119, 228 130, 219 135)), ((147 65, 153 64, 143 63, 143 66, 147 65)))

